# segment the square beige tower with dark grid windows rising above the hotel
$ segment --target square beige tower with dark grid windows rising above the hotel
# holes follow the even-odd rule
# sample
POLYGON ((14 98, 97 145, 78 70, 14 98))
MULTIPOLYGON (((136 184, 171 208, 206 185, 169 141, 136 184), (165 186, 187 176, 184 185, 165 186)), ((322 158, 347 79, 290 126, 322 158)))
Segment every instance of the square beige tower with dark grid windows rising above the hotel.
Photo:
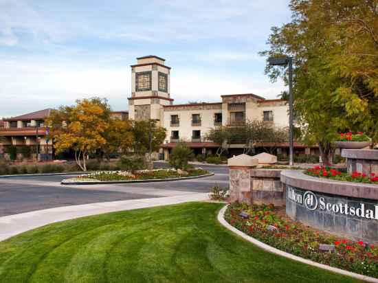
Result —
POLYGON ((162 122, 163 106, 172 102, 170 67, 165 65, 165 59, 155 55, 137 58, 137 64, 131 65, 129 119, 162 122))

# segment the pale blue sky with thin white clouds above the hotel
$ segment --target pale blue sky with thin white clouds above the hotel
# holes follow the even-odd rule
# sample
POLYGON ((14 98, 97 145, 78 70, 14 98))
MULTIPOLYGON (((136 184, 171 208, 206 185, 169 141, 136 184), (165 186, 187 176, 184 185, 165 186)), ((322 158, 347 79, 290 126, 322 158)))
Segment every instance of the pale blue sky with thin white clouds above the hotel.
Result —
POLYGON ((128 108, 131 67, 156 55, 171 67, 171 98, 219 102, 286 89, 264 74, 270 28, 287 0, 0 0, 0 117, 107 98, 128 108))

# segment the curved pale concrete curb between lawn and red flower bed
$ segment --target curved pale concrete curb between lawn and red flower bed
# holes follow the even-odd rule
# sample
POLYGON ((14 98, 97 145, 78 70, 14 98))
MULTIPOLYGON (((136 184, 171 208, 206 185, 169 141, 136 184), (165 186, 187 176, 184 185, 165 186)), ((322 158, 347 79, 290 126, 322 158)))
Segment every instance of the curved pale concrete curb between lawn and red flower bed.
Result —
POLYGON ((225 220, 225 211, 227 210, 228 205, 225 205, 218 213, 218 221, 223 225, 225 228, 229 229, 230 231, 233 231, 238 236, 241 236, 248 242, 252 242, 252 244, 256 245, 257 247, 264 249, 265 251, 269 251, 269 253, 275 253, 278 256, 283 256, 285 258, 289 258, 290 260, 296 260, 298 262, 302 262, 304 264, 309 264, 313 267, 318 267, 320 269, 325 269, 326 271, 331 271, 334 273, 339 273, 341 275, 347 275, 351 276, 358 280, 364 280, 366 282, 374 282, 378 283, 377 278, 372 278, 366 275, 357 274, 351 271, 345 271, 343 269, 337 269, 336 267, 330 267, 329 265, 320 264, 318 262, 313 262, 312 260, 306 260, 304 258, 300 258, 299 256, 293 256, 291 253, 287 253, 285 251, 281 251, 280 249, 276 249, 274 247, 271 247, 263 242, 260 242, 259 240, 256 240, 255 238, 252 238, 251 236, 248 236, 244 234, 242 231, 236 229, 235 227, 231 226, 227 221, 225 220))

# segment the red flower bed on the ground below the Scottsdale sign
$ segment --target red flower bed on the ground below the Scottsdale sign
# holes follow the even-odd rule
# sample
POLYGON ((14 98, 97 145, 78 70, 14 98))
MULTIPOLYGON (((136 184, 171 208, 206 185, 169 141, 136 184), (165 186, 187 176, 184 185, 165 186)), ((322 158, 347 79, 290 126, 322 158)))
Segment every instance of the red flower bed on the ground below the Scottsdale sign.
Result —
POLYGON ((245 234, 271 247, 332 267, 378 278, 378 247, 362 241, 337 239, 280 216, 273 205, 248 206, 233 203, 225 220, 245 234), (243 217, 240 216, 243 212, 243 217), (328 245, 334 251, 324 251, 328 245))

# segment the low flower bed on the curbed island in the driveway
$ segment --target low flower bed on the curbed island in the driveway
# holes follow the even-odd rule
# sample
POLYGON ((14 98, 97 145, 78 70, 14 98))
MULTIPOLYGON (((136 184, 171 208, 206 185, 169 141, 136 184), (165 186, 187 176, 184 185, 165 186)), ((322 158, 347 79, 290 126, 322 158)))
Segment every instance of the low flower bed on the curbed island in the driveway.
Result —
POLYGON ((135 172, 129 171, 102 171, 93 172, 89 174, 82 174, 72 179, 63 180, 67 182, 80 182, 80 181, 133 181, 133 180, 153 180, 153 179, 173 179, 180 177, 196 177, 210 172, 202 169, 188 170, 182 172, 175 169, 155 169, 155 170, 139 170, 135 172), (183 174, 184 173, 184 174, 183 174))

